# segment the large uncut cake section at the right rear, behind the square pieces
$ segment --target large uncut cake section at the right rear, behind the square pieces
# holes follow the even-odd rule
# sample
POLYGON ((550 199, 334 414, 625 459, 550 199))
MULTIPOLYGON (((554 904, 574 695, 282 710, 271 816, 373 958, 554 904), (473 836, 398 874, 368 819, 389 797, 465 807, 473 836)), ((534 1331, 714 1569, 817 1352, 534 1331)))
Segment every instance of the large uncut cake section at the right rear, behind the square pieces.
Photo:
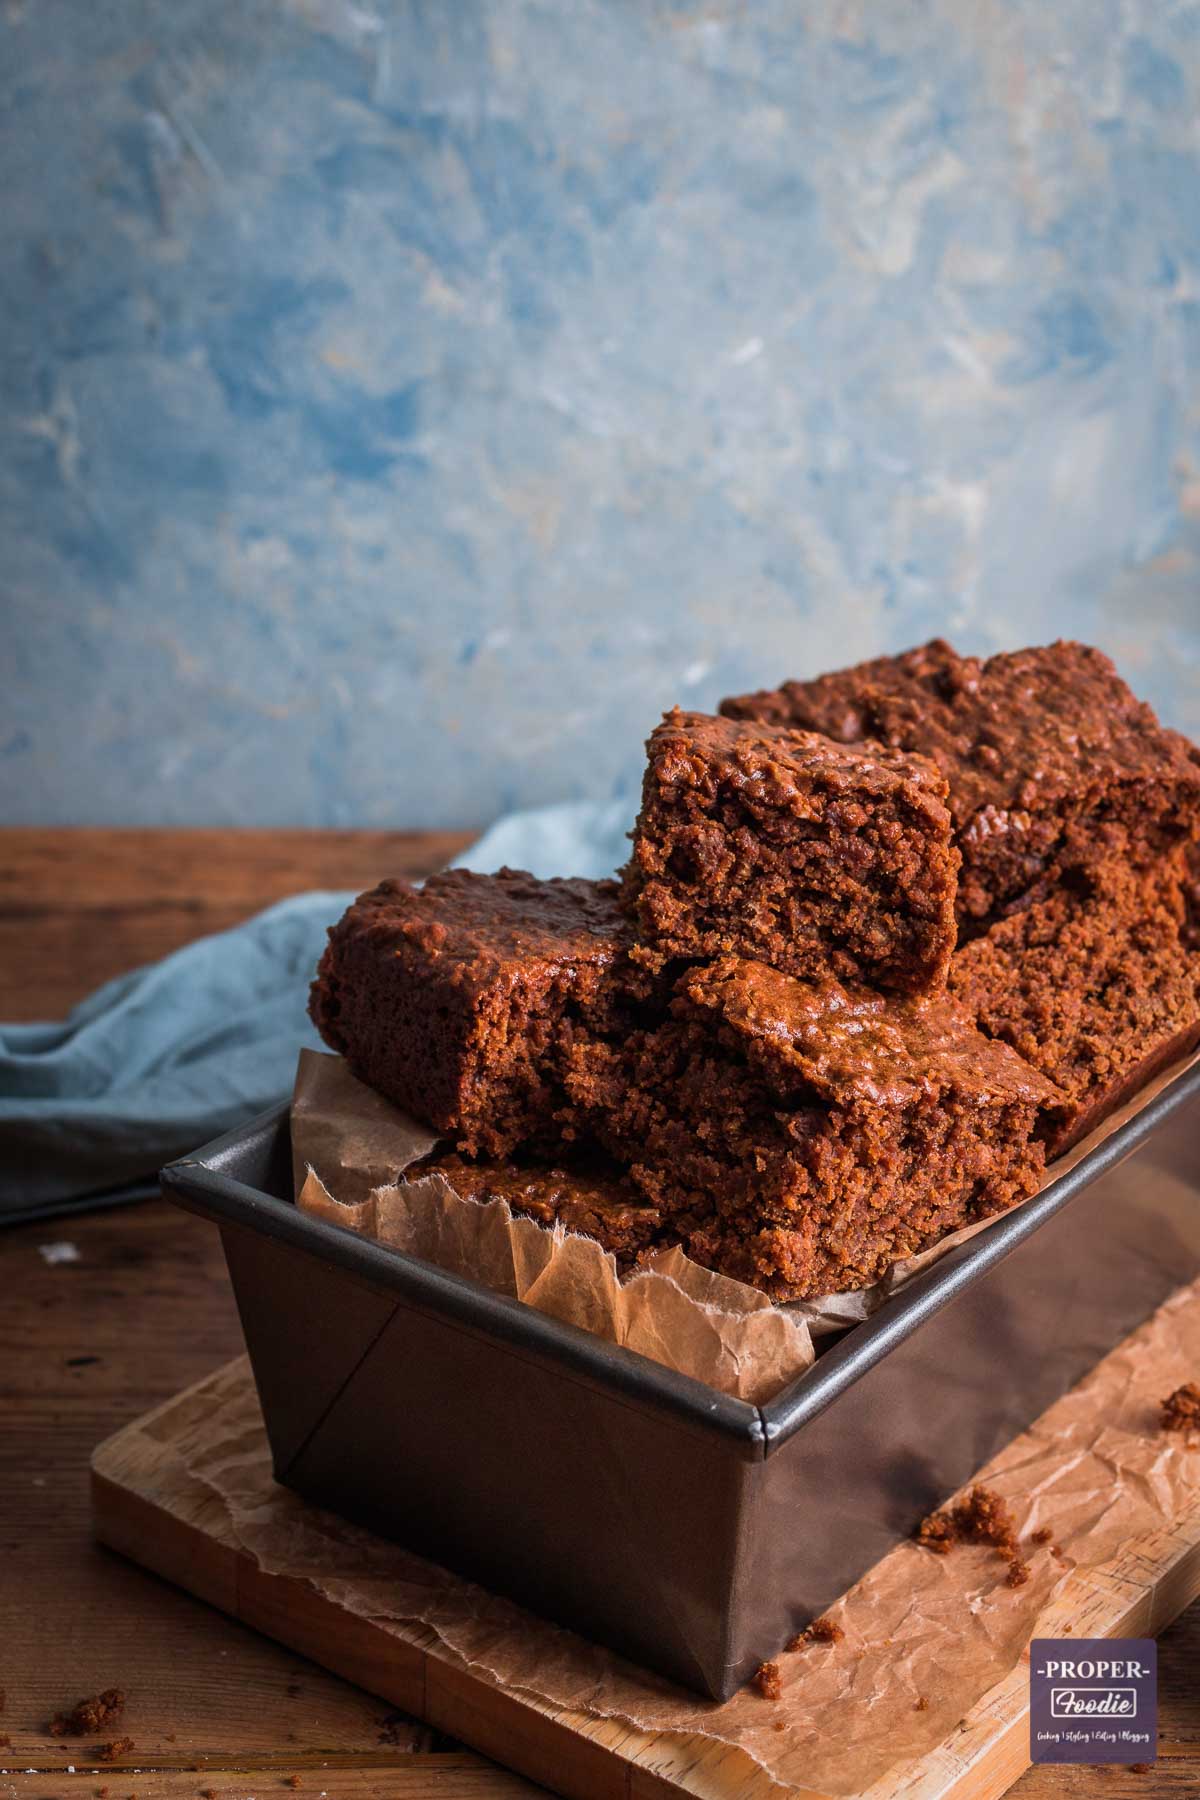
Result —
POLYGON ((936 639, 721 711, 943 770, 963 857, 950 988, 1063 1091, 1049 1154, 1200 1040, 1200 752, 1099 650, 979 661, 936 639))

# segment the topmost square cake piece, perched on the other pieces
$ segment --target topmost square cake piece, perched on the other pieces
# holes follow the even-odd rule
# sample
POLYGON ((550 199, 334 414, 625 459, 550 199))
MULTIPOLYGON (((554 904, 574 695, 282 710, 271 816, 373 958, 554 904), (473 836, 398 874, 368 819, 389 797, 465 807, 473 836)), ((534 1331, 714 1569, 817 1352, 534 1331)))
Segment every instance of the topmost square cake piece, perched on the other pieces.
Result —
POLYGON ((930 763, 678 709, 646 749, 622 898, 655 956, 945 986, 959 855, 930 763))

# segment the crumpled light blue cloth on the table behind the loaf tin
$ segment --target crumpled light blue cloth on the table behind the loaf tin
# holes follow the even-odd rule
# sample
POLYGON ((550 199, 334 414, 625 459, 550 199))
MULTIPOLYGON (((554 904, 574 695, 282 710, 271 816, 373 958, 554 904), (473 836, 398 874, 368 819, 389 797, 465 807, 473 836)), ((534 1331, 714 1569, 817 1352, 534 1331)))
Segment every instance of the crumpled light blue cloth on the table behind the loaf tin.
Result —
MULTIPOLYGON (((628 823, 624 803, 513 814, 459 862, 606 875, 628 823)), ((297 895, 117 976, 61 1024, 0 1026, 0 1222, 140 1199, 162 1163, 284 1100, 318 1044, 308 985, 351 898, 297 895)))

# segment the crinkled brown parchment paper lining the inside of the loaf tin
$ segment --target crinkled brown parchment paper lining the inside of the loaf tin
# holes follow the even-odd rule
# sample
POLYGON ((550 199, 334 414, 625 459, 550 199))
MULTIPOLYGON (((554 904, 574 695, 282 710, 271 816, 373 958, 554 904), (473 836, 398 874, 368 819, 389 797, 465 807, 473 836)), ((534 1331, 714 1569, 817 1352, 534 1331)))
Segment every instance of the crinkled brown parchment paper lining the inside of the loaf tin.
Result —
MULTIPOLYGON (((1058 1157, 1043 1186, 1195 1062, 1200 1053, 1164 1069, 1058 1157)), ((995 1224, 982 1219, 950 1233, 921 1255, 894 1262, 873 1287, 777 1307, 756 1287, 712 1274, 680 1249, 657 1253, 642 1271, 621 1278, 615 1260, 592 1238, 516 1219, 504 1201, 480 1206, 457 1195, 441 1175, 398 1186, 398 1175, 428 1156, 435 1141, 358 1082, 340 1057, 300 1051, 291 1156, 304 1211, 466 1274, 752 1404, 772 1399, 811 1366, 813 1337, 862 1323, 939 1256, 995 1224)))

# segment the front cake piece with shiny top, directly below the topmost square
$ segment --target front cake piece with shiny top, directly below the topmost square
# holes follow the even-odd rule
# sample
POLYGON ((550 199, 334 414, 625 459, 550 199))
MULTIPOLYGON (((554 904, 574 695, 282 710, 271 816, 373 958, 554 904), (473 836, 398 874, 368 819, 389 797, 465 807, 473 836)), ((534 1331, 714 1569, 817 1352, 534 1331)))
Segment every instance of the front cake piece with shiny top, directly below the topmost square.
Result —
POLYGON ((738 958, 685 972, 664 1024, 578 1044, 567 1089, 689 1255, 775 1300, 867 1287, 1034 1192, 1060 1102, 945 995, 738 958))

